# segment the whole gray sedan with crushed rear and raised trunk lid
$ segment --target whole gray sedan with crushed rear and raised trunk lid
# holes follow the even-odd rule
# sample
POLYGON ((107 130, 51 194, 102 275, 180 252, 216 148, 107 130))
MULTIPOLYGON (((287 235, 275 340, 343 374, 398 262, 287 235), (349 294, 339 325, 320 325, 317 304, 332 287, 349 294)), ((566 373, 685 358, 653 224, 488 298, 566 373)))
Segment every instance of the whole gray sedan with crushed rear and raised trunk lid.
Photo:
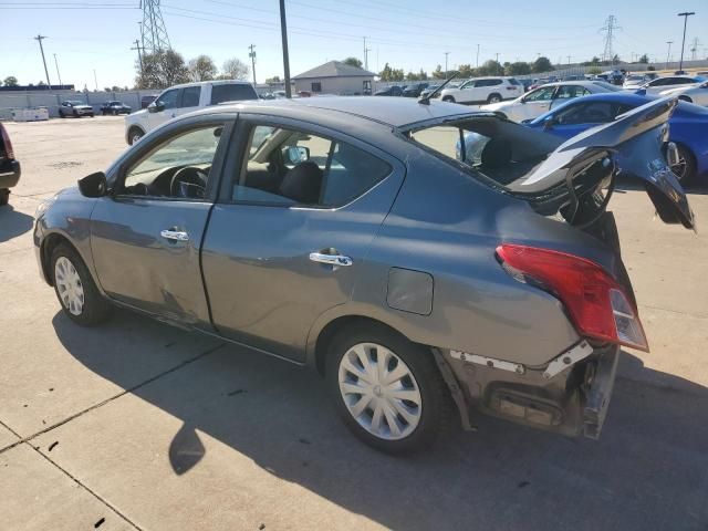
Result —
POLYGON ((210 107, 43 204, 40 271, 80 325, 119 305, 312 367, 384 451, 473 409, 596 438, 621 345, 648 348, 606 210, 616 154, 694 226, 674 105, 565 144, 442 102, 210 107), (456 160, 467 133, 488 142, 456 160))

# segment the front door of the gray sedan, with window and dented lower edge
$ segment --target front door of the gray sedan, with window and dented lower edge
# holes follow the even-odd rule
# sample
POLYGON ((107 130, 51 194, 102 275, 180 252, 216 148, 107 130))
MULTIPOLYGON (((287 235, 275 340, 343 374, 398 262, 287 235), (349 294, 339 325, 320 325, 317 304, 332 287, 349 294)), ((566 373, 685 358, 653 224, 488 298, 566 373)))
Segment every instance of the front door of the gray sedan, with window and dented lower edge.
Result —
POLYGON ((210 116, 175 124, 132 149, 108 177, 112 192, 92 212, 91 248, 111 299, 211 330, 199 253, 231 128, 210 116), (206 180, 198 194, 187 177, 194 169, 206 180))

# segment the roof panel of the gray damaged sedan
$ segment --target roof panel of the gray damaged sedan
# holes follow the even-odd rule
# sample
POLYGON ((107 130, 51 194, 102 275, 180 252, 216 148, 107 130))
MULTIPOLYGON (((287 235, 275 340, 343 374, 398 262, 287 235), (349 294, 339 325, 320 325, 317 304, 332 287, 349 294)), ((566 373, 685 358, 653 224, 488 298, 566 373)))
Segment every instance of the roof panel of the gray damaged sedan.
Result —
MULTIPOLYGON (((371 96, 332 96, 300 97, 296 100, 246 101, 219 105, 220 110, 236 112, 263 112, 300 108, 311 110, 313 114, 346 113, 361 118, 403 127, 405 125, 444 118, 446 116, 470 114, 462 105, 430 101, 424 105, 412 97, 371 97, 371 96)), ((214 111, 215 107, 211 107, 214 111)))

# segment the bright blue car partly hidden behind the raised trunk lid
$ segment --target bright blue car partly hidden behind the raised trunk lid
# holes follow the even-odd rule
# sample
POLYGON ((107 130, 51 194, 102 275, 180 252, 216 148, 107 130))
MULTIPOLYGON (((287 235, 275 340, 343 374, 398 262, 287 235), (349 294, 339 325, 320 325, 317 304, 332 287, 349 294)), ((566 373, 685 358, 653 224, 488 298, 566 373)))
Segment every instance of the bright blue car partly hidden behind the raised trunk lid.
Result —
MULTIPOLYGON (((653 100, 621 92, 593 94, 573 100, 524 125, 568 139, 653 100)), ((668 123, 669 139, 678 148, 678 164, 671 169, 683 185, 696 181, 708 173, 708 108, 680 102, 668 123)))

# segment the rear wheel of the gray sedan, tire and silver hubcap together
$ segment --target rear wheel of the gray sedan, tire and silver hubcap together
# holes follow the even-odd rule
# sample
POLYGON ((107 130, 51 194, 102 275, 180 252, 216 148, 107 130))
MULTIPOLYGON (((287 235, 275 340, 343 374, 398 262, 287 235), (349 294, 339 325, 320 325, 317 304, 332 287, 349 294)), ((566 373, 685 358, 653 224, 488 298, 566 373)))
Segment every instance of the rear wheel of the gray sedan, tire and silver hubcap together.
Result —
POLYGON ((343 329, 326 360, 335 407, 356 437, 389 454, 429 446, 450 397, 430 351, 378 324, 343 329))

